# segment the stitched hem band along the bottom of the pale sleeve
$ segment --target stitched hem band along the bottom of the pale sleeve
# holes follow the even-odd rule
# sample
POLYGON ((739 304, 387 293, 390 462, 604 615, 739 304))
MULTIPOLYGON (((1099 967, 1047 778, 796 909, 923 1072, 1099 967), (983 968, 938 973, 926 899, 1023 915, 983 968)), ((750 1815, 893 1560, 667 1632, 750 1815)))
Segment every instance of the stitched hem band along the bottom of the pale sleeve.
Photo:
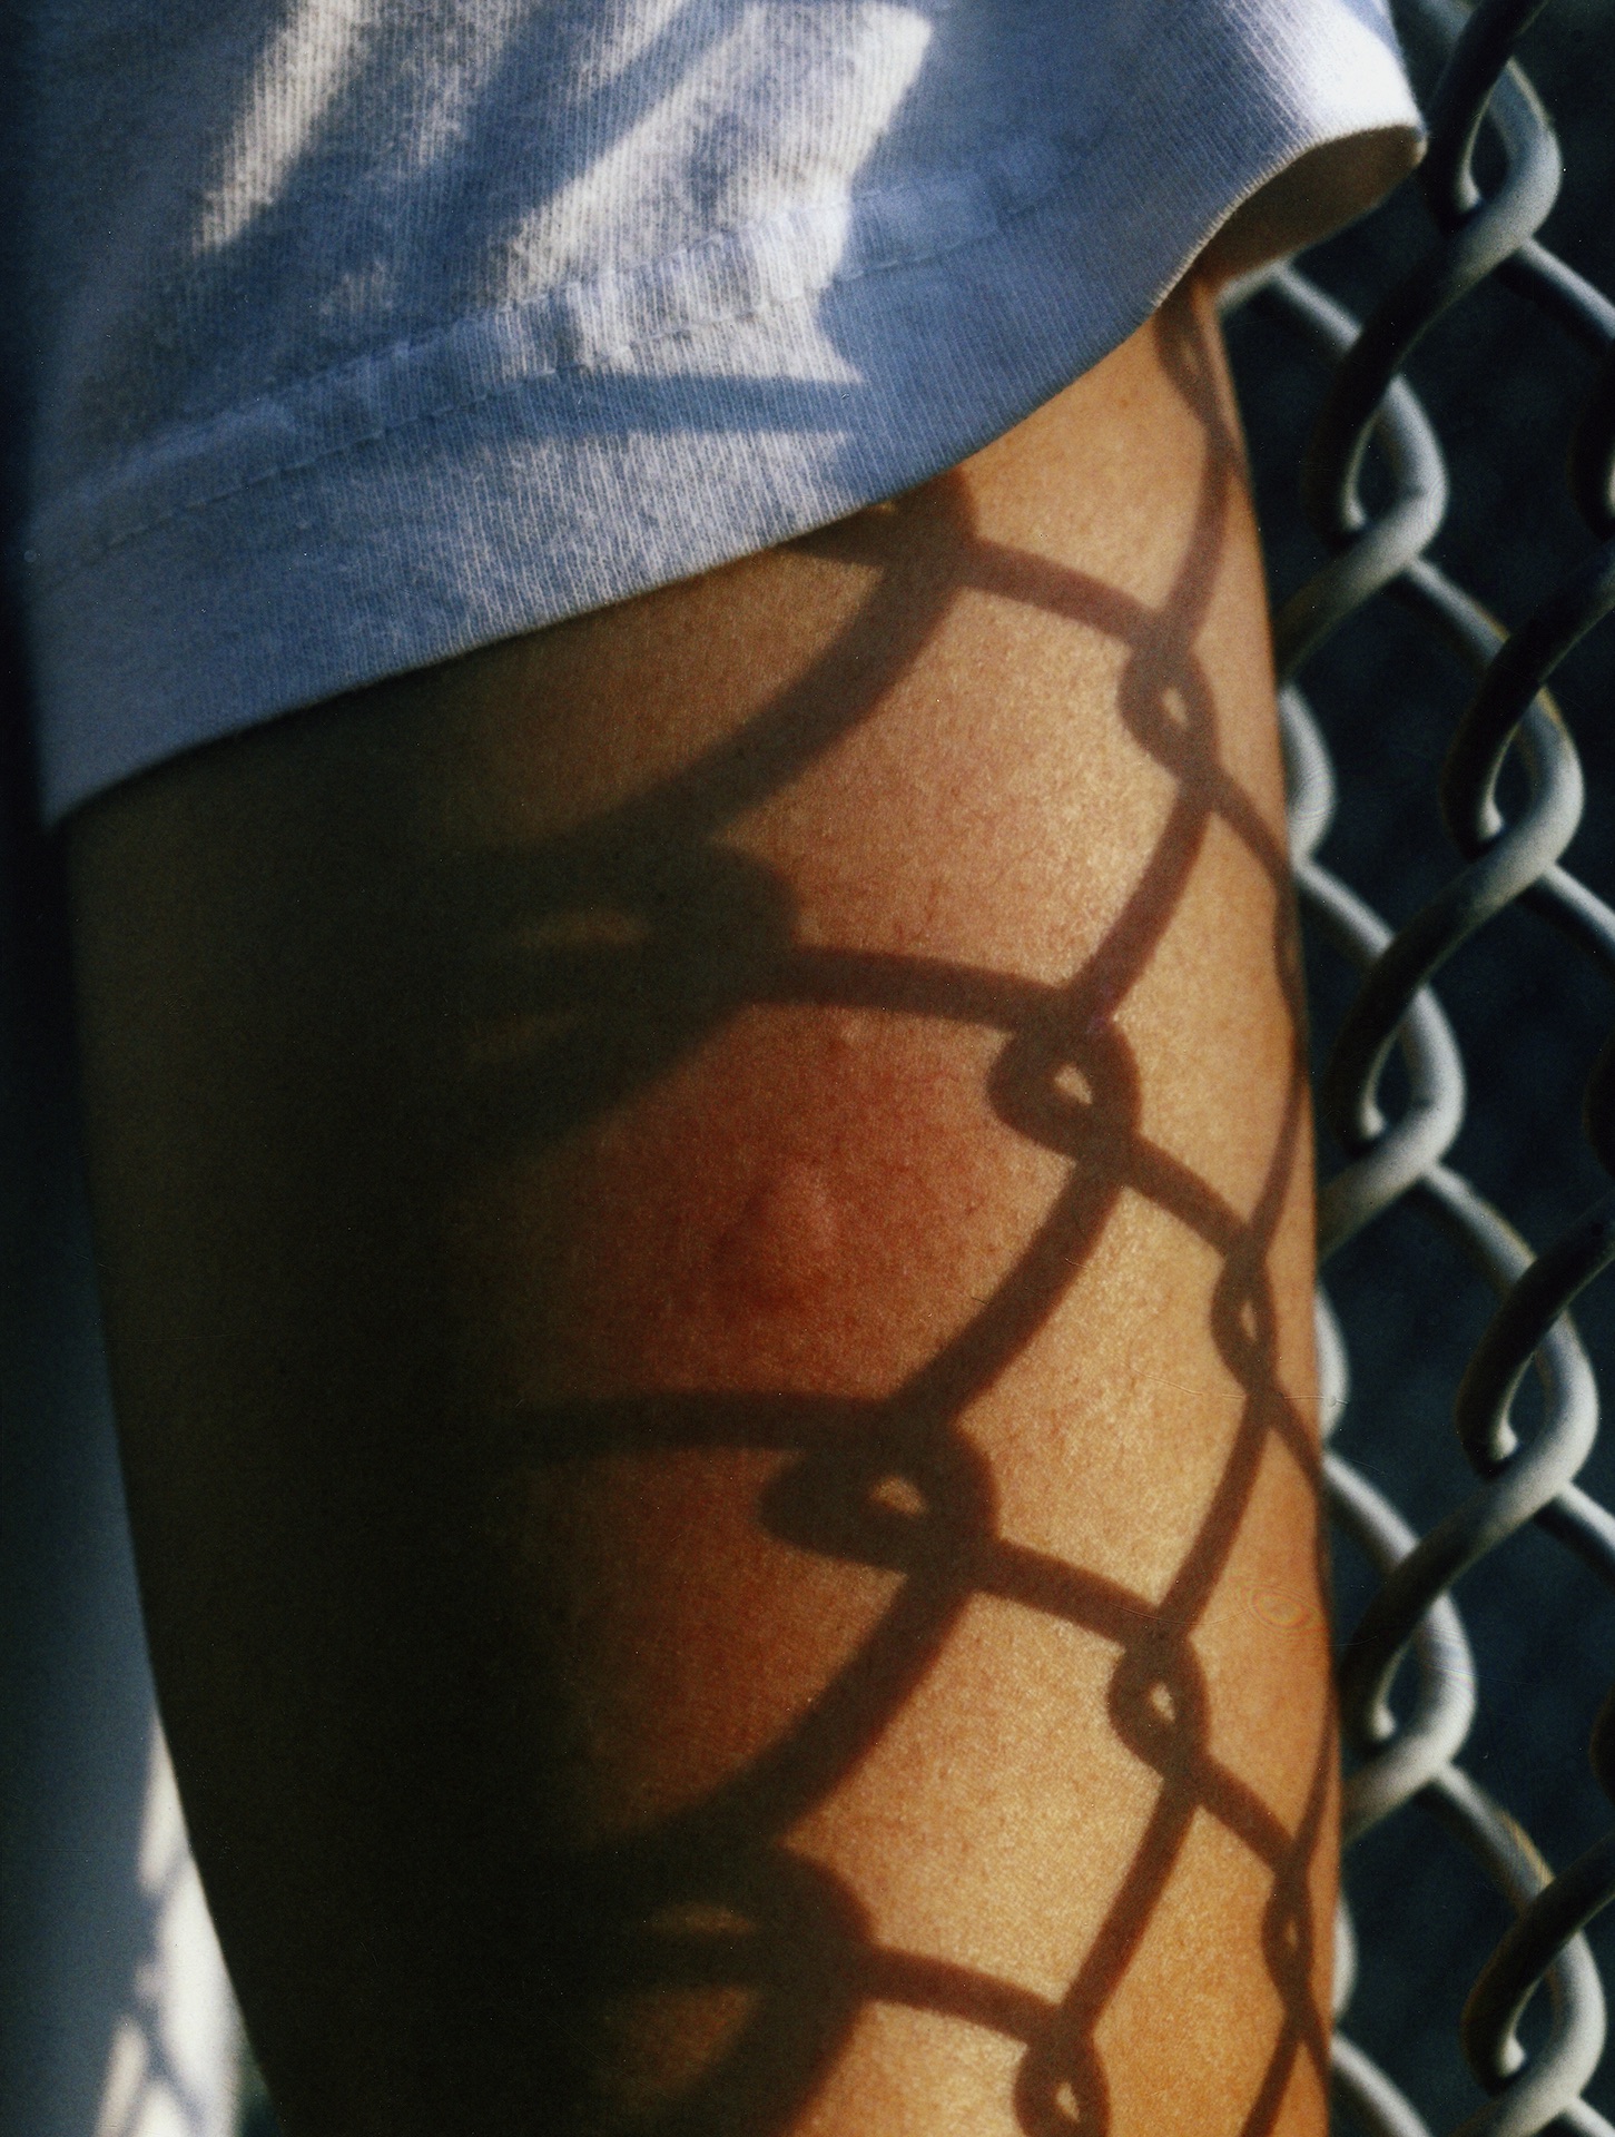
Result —
POLYGON ((1346 0, 1318 21, 1245 56, 1237 124, 1198 105, 1211 81, 1230 94, 1226 51, 1143 51, 1124 132, 1113 118, 1075 167, 1019 143, 936 182, 925 214, 865 194, 833 259, 820 216, 775 218, 737 233, 739 278, 731 248, 483 314, 60 500, 28 536, 47 816, 957 464, 1117 346, 1299 154, 1412 143, 1391 49, 1346 0))

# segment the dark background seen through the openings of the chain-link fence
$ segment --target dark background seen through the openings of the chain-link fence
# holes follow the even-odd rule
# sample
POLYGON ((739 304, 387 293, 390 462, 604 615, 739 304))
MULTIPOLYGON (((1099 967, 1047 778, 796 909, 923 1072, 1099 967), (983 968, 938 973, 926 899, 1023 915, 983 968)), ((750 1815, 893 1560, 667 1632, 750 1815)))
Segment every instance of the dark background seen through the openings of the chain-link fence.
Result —
MULTIPOLYGON (((1421 92, 1427 53, 1406 26, 1421 92)), ((1555 0, 1521 45, 1553 113, 1566 184, 1540 237, 1615 291, 1615 9, 1555 0)), ((1487 158, 1478 160, 1487 184, 1487 158)), ((1307 274, 1359 316, 1431 244, 1416 186, 1307 256, 1307 274)), ((1269 579, 1275 603, 1322 560, 1297 502, 1297 468, 1327 383, 1297 336, 1260 308, 1228 323, 1269 579)), ((1485 284, 1444 318, 1410 378, 1448 457, 1453 506, 1431 556, 1504 624, 1521 618, 1587 553, 1587 530, 1564 483, 1574 415, 1592 383, 1587 357, 1525 299, 1485 284)), ((1374 504, 1371 479, 1367 485, 1374 504)), ((1303 675, 1339 778, 1324 863, 1393 925, 1455 870, 1436 786, 1470 680, 1389 598, 1371 603, 1303 675)), ((1594 630, 1553 684, 1587 776, 1587 812, 1566 865, 1615 898, 1615 628, 1594 630)), ((1506 799, 1506 797, 1504 797, 1506 799)), ((1316 1066, 1350 998, 1350 974, 1307 942, 1316 1066)), ((1615 996, 1532 912, 1510 910, 1438 981, 1470 1077, 1470 1109, 1448 1163, 1545 1246, 1606 1180, 1581 1139, 1581 1088, 1615 1024, 1615 996)), ((1395 1088, 1395 1086, 1393 1086, 1395 1088)), ((1339 1165, 1327 1143, 1320 1169, 1339 1165)), ((1427 1220, 1391 1210, 1329 1269, 1352 1357, 1352 1400, 1339 1451, 1421 1530, 1474 1479, 1451 1425, 1468 1353, 1491 1310, 1480 1282, 1427 1220)), ((1615 1280, 1577 1308, 1606 1406, 1615 1391, 1615 1280)), ((1606 1425, 1583 1483, 1615 1500, 1615 1432, 1606 1425)), ((1339 1554, 1337 1607, 1350 1628, 1369 1594, 1363 1566, 1339 1554)), ((1555 1868, 1609 1827, 1585 1744, 1615 1678, 1615 1596, 1536 1530, 1515 1537, 1459 1584, 1457 1603, 1480 1671, 1480 1710, 1463 1763, 1521 1819, 1555 1868)), ((1348 1863, 1361 1938, 1352 2037, 1401 2084, 1436 2131, 1483 2094, 1457 2045, 1457 2017, 1508 1915, 1465 1851, 1418 1806, 1389 1819, 1348 1863)), ((1592 1930, 1606 1981, 1615 1923, 1592 1930)), ((1545 2002, 1545 1998, 1538 1998, 1545 2002)), ((1540 2019, 1540 2013, 1536 2013, 1540 2019)), ((1525 2041, 1534 2032, 1527 2024, 1525 2041)), ((1587 2088, 1615 2116, 1615 2058, 1587 2088)))

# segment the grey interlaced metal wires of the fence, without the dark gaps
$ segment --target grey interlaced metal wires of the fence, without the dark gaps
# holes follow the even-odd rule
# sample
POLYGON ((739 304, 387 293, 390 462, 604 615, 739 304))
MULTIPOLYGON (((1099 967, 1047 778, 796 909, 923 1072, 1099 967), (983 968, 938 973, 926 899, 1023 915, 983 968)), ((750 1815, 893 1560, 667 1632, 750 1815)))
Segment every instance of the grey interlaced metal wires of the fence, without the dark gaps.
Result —
MULTIPOLYGON (((1404 1205, 1455 1239, 1498 1295, 1457 1389, 1457 1436, 1476 1479, 1463 1498, 1418 1532, 1361 1466, 1337 1451, 1327 1455, 1337 1532, 1378 1575, 1342 1656, 1342 1720, 1352 1754, 1346 1844, 1421 1806, 1457 1836, 1515 1910, 1512 1928, 1474 1975, 1461 2022, 1468 2066, 1491 2094, 1461 2128, 1508 2137, 1547 2126, 1611 2128, 1581 2096, 1604 2045, 1604 1998, 1583 1932, 1615 1898, 1615 1831, 1551 1876, 1525 1829, 1461 1763, 1476 1718, 1476 1671, 1453 1601, 1455 1584, 1527 1524, 1615 1586, 1615 1519, 1574 1483, 1594 1447, 1598 1398, 1566 1312, 1615 1259, 1615 1195, 1600 1197, 1534 1257, 1500 1210, 1444 1163, 1465 1118, 1465 1075, 1429 985, 1455 951, 1515 904, 1615 977, 1615 912, 1559 865, 1581 823, 1583 778, 1545 690, 1615 607, 1615 306, 1534 235, 1557 199, 1562 165, 1547 111, 1512 53, 1540 13, 1542 0, 1485 0, 1472 15, 1451 0, 1418 0, 1416 28, 1446 53, 1429 98, 1431 143, 1418 182, 1433 241, 1365 323, 1295 267, 1271 276, 1254 299, 1331 368, 1305 453, 1303 498, 1333 553, 1282 605, 1275 626, 1297 885, 1316 934, 1361 970, 1318 1092, 1322 1118, 1346 1152, 1320 1195, 1320 1259, 1327 1265, 1404 1205), (1485 190, 1474 175, 1478 154, 1495 154, 1485 190), (1401 376, 1436 323, 1493 278, 1598 365, 1568 462, 1570 494, 1596 547, 1512 633, 1429 556, 1448 506, 1448 470, 1438 432, 1401 376), (1395 932, 1318 859, 1335 780, 1320 727, 1297 688, 1307 662, 1380 594, 1408 609, 1478 680, 1440 782, 1461 865, 1395 932), (1519 799, 1508 780, 1523 786, 1519 799), (1500 793, 1508 793, 1506 808, 1500 793), (1401 1064, 1395 1101, 1393 1054, 1401 1064), (1527 1425, 1519 1398, 1532 1363, 1542 1398, 1527 1425), (1538 1992, 1551 2017, 1527 2054, 1521 2024, 1538 1992)), ((1615 1041, 1592 1068, 1585 1126, 1604 1169, 1615 1171, 1615 1041)), ((1318 1325, 1331 1430, 1346 1406, 1348 1353, 1327 1289, 1318 1325)), ((1615 1699, 1592 1729, 1592 1759, 1604 1793, 1615 1795, 1615 1699)), ((1404 1934, 1416 1936, 1421 1925, 1414 1902, 1404 1934)), ((1352 2041, 1354 1943, 1344 1908, 1337 2099, 1367 2131, 1416 2137, 1427 2128, 1423 2116, 1352 2041)))

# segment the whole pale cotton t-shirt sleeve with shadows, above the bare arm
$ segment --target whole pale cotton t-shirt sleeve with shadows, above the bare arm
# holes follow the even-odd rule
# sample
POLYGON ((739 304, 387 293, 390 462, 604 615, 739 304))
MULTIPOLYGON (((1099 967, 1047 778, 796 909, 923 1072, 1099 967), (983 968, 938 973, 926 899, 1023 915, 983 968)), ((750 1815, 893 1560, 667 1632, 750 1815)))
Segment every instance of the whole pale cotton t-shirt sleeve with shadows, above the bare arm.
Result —
POLYGON ((1416 128, 1380 0, 13 11, 49 816, 951 466, 1416 128))

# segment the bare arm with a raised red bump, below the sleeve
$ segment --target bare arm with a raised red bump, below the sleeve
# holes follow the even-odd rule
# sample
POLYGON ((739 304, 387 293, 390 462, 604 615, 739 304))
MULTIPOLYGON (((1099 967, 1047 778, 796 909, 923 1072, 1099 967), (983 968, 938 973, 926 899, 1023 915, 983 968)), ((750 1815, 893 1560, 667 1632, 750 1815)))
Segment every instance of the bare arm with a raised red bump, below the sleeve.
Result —
POLYGON ((288 2137, 1322 2133, 1280 821, 1203 295, 891 506, 79 814, 288 2137))

